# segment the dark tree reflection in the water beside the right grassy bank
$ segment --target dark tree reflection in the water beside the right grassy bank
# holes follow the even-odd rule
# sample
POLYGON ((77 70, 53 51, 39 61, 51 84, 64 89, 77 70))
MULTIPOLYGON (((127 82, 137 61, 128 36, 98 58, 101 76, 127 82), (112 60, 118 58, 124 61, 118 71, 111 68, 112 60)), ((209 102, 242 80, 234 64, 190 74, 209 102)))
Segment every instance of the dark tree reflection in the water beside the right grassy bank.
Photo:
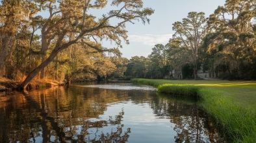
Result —
POLYGON ((177 132, 175 142, 224 142, 214 127, 210 127, 207 116, 196 104, 177 102, 177 99, 155 98, 151 108, 156 116, 170 118, 177 132))

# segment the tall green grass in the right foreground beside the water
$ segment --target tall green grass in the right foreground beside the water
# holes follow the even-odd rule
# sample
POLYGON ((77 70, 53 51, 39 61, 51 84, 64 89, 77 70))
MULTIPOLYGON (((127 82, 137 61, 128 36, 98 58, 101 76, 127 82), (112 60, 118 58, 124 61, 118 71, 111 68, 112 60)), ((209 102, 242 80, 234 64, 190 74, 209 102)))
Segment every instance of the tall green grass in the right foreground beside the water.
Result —
POLYGON ((241 107, 218 91, 201 88, 198 91, 199 105, 216 122, 227 140, 232 142, 256 142, 255 111, 241 107))

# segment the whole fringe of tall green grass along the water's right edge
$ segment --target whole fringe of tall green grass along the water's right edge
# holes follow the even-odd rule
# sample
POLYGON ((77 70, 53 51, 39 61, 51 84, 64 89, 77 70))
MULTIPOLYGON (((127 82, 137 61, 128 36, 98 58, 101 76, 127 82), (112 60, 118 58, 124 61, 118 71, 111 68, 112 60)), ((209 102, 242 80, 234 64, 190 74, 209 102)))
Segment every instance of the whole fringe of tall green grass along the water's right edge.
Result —
POLYGON ((175 81, 168 80, 134 79, 133 82, 153 85, 157 87, 159 93, 187 97, 199 96, 198 104, 214 118, 217 128, 226 140, 256 142, 256 110, 237 104, 237 101, 234 102, 234 98, 221 91, 222 88, 213 89, 211 86, 193 85, 179 81, 175 83, 175 81))

